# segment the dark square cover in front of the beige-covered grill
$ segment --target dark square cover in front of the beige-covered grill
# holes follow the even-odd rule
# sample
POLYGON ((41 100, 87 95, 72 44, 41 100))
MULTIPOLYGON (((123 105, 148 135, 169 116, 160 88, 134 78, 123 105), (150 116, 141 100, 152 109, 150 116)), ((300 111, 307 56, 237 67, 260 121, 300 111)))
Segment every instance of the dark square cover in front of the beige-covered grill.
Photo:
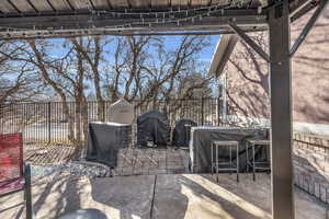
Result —
POLYGON ((86 160, 116 166, 117 152, 132 142, 132 126, 116 123, 90 123, 86 160))

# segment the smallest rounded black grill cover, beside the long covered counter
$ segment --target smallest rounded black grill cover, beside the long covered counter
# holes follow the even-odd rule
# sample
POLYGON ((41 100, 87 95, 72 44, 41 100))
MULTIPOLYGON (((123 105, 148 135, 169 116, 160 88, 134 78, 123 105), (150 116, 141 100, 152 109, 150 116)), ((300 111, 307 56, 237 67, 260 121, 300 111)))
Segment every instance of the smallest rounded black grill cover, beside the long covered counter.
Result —
POLYGON ((172 145, 177 147, 189 147, 191 127, 197 124, 191 119, 180 119, 172 132, 172 145))

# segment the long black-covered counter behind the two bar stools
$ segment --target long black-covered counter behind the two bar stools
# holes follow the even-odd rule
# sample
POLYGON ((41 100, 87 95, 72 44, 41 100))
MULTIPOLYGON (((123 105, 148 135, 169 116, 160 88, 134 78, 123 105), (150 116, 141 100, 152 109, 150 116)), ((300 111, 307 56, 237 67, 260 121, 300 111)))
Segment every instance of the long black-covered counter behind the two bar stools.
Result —
MULTIPOLYGON (((235 140, 239 142, 239 171, 247 169, 246 141, 248 139, 269 139, 266 128, 241 128, 241 127, 192 127, 190 140, 190 169, 192 173, 209 173, 212 170, 211 146, 214 140, 235 140)), ((265 148, 260 147, 257 159, 263 159, 265 148)), ((250 152, 249 152, 250 153, 250 152)), ((227 148, 219 149, 220 159, 229 158, 227 148)), ((232 154, 236 154, 232 151, 232 154)), ((251 158, 251 155, 249 157, 251 158)), ((236 159, 236 155, 232 157, 236 159)))

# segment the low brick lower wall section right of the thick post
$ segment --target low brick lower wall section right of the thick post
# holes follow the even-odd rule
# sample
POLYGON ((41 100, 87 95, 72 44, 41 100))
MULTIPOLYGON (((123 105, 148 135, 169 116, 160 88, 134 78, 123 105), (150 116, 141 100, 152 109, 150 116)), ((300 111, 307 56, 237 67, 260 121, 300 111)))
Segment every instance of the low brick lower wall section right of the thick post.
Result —
POLYGON ((295 185, 329 204, 329 137, 294 134, 295 185))

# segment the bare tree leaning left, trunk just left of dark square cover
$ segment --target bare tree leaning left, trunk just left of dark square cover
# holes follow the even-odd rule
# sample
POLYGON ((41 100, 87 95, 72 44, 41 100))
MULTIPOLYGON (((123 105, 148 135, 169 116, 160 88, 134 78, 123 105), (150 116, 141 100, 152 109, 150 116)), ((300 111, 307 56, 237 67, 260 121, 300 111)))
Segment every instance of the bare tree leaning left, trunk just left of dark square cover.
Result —
MULTIPOLYGON (((82 39, 77 39, 82 44, 82 39)), ((26 64, 34 68, 44 84, 49 85, 63 102, 64 114, 68 120, 69 140, 77 146, 77 154, 82 147, 83 136, 87 136, 87 99, 86 78, 89 69, 86 67, 82 54, 67 41, 56 43, 56 46, 67 47, 61 55, 54 56, 54 43, 47 39, 31 39, 26 43, 12 44, 20 51, 18 56, 1 53, 12 61, 26 64), (76 101, 75 115, 69 106, 69 101, 76 101), (81 120, 84 120, 82 123, 81 120), (78 122, 78 123, 75 123, 78 122)))

